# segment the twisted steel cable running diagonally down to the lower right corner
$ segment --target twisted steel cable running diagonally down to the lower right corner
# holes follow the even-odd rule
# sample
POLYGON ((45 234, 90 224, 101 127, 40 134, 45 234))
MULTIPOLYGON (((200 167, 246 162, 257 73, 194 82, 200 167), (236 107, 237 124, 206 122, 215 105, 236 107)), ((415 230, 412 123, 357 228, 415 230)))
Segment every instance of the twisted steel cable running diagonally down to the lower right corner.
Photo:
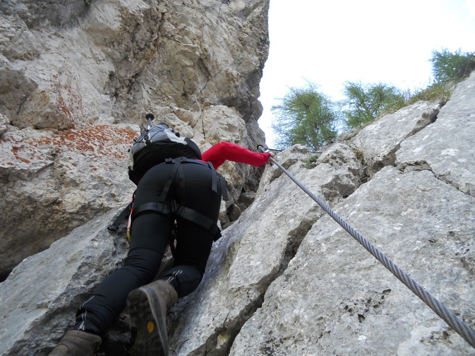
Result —
MULTIPOLYGON (((264 146, 258 145, 257 150, 265 152, 264 146)), ((397 267, 386 255, 381 253, 375 246, 366 240, 358 231, 346 223, 338 214, 336 214, 328 204, 312 193, 305 185, 293 177, 279 162, 272 157, 269 160, 277 165, 297 186, 310 196, 325 212, 330 215, 346 232, 348 232, 356 241, 358 241, 369 253, 371 253, 384 267, 396 276, 406 287, 416 294, 427 306, 449 324, 460 336, 464 338, 473 348, 475 348, 474 330, 459 317, 454 315, 442 303, 435 299, 424 287, 412 279, 401 268, 397 267)))

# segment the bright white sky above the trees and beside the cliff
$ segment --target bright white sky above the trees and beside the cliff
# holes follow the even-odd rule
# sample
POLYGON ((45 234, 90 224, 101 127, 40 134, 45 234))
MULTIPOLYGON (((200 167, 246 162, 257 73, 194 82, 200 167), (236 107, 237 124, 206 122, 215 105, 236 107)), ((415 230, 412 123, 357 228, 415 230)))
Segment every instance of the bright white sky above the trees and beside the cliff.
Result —
POLYGON ((272 105, 307 81, 341 100, 346 81, 424 89, 432 50, 475 51, 475 0, 270 0, 258 123, 273 147, 272 105))

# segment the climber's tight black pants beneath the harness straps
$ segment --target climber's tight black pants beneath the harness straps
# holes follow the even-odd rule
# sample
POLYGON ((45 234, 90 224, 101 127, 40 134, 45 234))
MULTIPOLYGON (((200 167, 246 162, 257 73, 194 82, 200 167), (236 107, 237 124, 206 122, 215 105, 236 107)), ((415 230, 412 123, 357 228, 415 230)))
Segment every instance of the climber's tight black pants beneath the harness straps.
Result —
MULTIPOLYGON (((134 206, 158 202, 173 164, 152 167, 137 186, 134 206)), ((187 207, 218 221, 221 192, 211 190, 211 169, 195 163, 181 163, 167 194, 187 207), (185 181, 183 183, 183 180, 185 181), (185 187, 185 191, 180 187, 185 187)), ((196 289, 203 277, 214 236, 205 228, 176 217, 177 245, 173 268, 162 279, 169 282, 179 297, 196 289)), ((157 274, 168 244, 173 217, 158 213, 139 215, 132 224, 129 254, 124 266, 100 282, 94 294, 76 314, 76 329, 103 336, 126 306, 128 294, 150 283, 157 274)))

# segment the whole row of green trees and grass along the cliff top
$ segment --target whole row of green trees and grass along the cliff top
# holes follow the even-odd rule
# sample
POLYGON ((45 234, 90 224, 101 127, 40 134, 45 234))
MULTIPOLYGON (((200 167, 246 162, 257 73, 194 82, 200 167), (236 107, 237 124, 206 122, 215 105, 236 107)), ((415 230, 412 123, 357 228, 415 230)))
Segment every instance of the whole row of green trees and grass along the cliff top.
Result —
POLYGON ((424 89, 401 90, 378 83, 344 83, 346 99, 333 102, 308 83, 305 88, 289 88, 281 104, 272 107, 276 118, 272 128, 278 148, 303 144, 317 151, 336 137, 339 130, 362 127, 382 115, 395 112, 419 100, 445 103, 455 84, 475 70, 475 52, 432 51, 434 81, 424 89))

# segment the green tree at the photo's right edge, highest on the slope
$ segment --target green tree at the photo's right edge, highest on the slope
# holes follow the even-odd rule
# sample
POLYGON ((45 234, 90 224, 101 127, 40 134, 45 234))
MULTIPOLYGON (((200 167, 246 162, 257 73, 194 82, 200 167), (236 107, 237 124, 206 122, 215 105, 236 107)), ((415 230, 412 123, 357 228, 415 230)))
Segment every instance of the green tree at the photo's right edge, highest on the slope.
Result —
POLYGON ((475 52, 462 53, 460 48, 454 53, 446 48, 441 52, 433 50, 429 61, 435 81, 439 83, 461 81, 475 70, 475 52))

